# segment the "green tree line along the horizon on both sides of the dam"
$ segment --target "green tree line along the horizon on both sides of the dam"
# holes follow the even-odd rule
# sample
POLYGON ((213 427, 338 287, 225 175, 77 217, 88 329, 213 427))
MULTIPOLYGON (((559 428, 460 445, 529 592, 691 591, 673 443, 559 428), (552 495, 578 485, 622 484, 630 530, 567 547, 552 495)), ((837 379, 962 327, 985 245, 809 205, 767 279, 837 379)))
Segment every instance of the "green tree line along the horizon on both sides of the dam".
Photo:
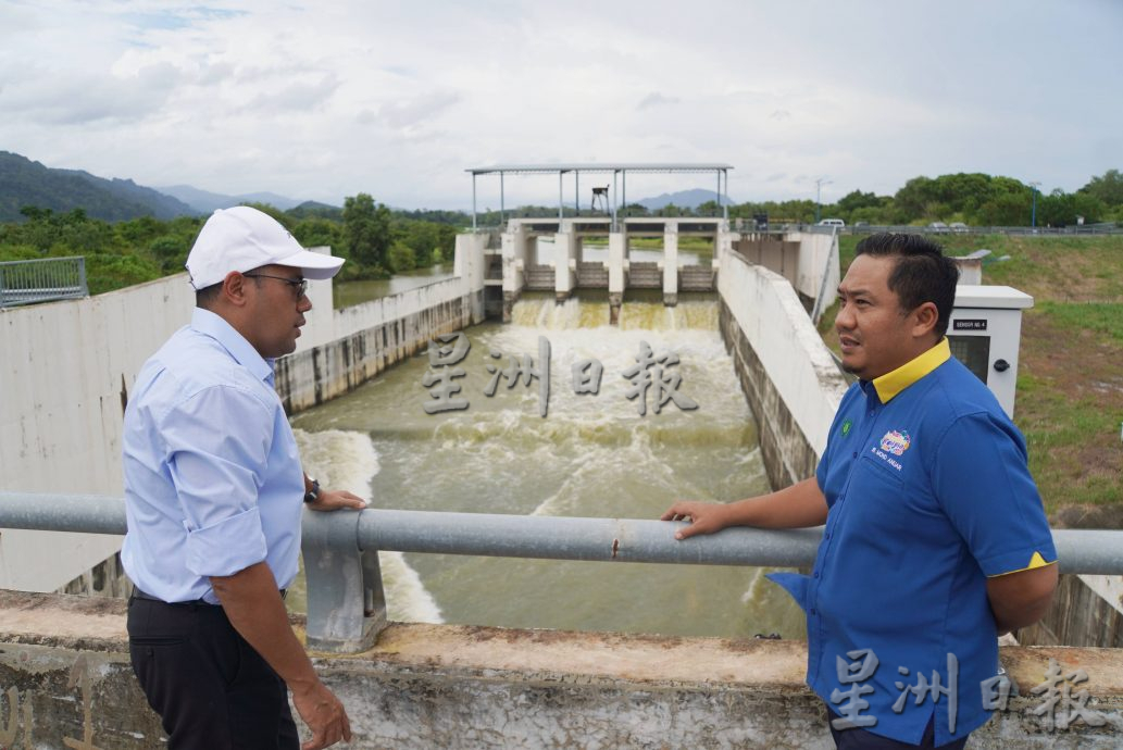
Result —
MULTIPOLYGON (((327 245, 349 260, 338 278, 385 278, 418 267, 451 260, 456 234, 471 225, 463 211, 402 211, 387 208, 366 193, 348 196, 343 208, 302 204, 287 211, 253 204, 284 225, 302 245, 327 245)), ((667 205, 655 212, 637 203, 627 216, 716 216, 714 201, 696 209, 667 205)), ((913 177, 893 195, 853 190, 834 203, 816 207, 811 200, 746 202, 728 208, 732 218, 767 213, 773 222, 811 222, 816 214, 848 225, 926 225, 962 221, 971 226, 1065 227, 1123 222, 1123 174, 1108 170, 1072 193, 1041 193, 1012 177, 949 174, 913 177), (818 211, 816 211, 818 209, 818 211)), ((22 221, 0 223, 0 260, 85 256, 91 293, 106 292, 179 273, 203 219, 159 220, 140 217, 122 221, 91 218, 83 209, 55 212, 35 205, 20 209, 22 221)), ((573 216, 573 209, 567 210, 573 216)), ((523 205, 502 218, 555 217, 557 207, 523 205)), ((500 212, 484 211, 482 226, 497 226, 500 212)))

